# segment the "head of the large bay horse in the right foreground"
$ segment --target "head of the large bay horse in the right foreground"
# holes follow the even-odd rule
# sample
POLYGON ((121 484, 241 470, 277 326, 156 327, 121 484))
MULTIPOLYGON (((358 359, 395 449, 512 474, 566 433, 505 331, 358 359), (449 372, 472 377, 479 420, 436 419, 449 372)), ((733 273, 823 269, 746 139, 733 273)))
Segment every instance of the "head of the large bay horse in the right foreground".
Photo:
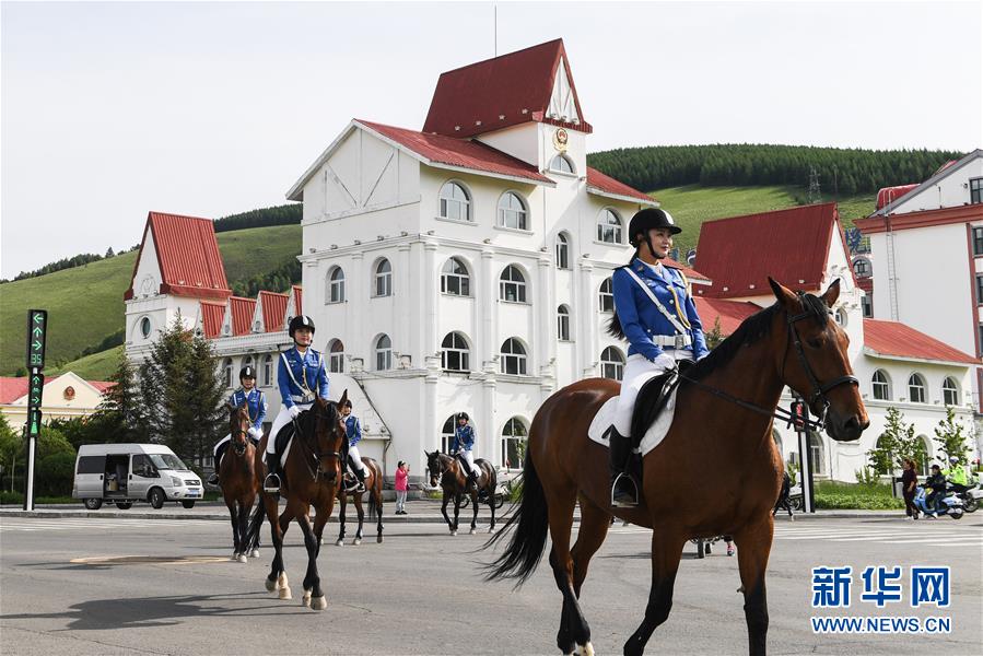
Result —
POLYGON ((840 296, 840 281, 833 281, 820 296, 793 292, 771 278, 768 281, 785 315, 785 345, 779 349, 782 382, 806 399, 830 437, 838 442, 859 438, 870 421, 850 365, 850 338, 830 318, 830 307, 840 296))

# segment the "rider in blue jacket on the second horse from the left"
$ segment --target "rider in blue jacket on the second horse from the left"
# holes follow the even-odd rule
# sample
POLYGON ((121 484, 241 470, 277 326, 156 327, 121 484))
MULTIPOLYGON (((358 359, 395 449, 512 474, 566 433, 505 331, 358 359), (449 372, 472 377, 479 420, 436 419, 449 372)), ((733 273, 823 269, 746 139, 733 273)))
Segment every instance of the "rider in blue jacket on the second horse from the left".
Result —
POLYGON ((273 420, 270 436, 266 444, 266 480, 262 489, 266 492, 280 490, 280 458, 277 457, 277 434, 280 429, 295 420, 304 410, 309 410, 315 397, 328 398, 328 374, 325 371, 325 359, 311 348, 314 341, 314 320, 307 315, 290 320, 288 333, 293 338, 293 348, 280 353, 277 370, 277 385, 280 387, 280 412, 273 420))

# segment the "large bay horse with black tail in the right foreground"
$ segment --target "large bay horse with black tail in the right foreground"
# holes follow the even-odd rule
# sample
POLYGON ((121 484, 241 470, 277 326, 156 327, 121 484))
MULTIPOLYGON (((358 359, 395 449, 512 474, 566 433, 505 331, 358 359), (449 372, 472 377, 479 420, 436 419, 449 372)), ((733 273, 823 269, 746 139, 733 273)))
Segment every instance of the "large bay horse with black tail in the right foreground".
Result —
POLYGON ((578 596, 612 514, 653 529, 648 605, 625 654, 641 654, 668 618, 686 541, 718 535, 733 535, 737 542, 749 651, 765 653, 764 573, 774 526, 771 509, 783 471, 771 427, 782 390, 788 386, 808 399, 833 440, 857 440, 869 423, 846 354, 846 335, 829 316, 839 281, 820 297, 793 293, 774 281, 771 285, 777 302, 745 320, 684 374, 672 425, 643 459, 639 507, 611 507, 607 449, 587 437, 595 413, 619 393, 617 382, 581 380, 555 393, 536 413, 520 506, 488 546, 513 534, 488 565, 488 578, 512 577, 519 584, 528 578, 549 529, 549 561, 563 595, 557 645, 564 653, 594 652, 578 596), (695 480, 714 484, 694 487, 695 480), (578 499, 581 524, 571 550, 578 499))

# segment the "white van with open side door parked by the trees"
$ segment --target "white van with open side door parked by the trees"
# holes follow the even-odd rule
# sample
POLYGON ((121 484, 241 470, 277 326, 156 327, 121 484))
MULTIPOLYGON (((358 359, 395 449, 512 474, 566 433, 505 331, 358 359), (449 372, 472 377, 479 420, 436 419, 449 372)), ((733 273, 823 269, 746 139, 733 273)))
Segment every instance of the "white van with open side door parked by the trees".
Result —
POLYGON ((160 444, 83 444, 75 459, 72 496, 90 511, 103 502, 121 509, 134 501, 161 508, 165 501, 178 501, 186 508, 204 494, 201 479, 160 444))

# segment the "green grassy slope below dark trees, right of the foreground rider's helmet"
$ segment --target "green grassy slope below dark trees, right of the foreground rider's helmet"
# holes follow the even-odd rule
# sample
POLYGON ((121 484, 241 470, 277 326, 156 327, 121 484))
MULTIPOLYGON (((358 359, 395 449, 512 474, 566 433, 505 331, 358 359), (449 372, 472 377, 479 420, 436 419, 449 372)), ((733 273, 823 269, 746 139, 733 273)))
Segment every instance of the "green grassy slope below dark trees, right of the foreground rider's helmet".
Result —
MULTIPOLYGON (((676 238, 680 258, 697 246, 700 225, 704 221, 740 216, 769 210, 783 210, 805 203, 805 192, 797 187, 669 187, 652 191, 662 207, 682 227, 676 238)), ((829 201, 830 198, 823 198, 829 201)), ((844 227, 852 227, 853 220, 874 211, 873 195, 855 196, 840 200, 840 218, 844 227)))

